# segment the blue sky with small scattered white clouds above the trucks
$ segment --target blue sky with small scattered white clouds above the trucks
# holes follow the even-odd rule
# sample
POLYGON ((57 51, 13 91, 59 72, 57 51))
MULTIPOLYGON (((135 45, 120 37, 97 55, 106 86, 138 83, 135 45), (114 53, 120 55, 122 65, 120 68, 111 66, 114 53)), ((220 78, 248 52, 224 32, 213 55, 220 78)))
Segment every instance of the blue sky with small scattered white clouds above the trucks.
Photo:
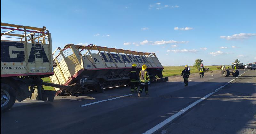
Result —
POLYGON ((53 49, 96 44, 155 52, 162 65, 256 61, 255 0, 1 0, 1 22, 43 27, 53 49))

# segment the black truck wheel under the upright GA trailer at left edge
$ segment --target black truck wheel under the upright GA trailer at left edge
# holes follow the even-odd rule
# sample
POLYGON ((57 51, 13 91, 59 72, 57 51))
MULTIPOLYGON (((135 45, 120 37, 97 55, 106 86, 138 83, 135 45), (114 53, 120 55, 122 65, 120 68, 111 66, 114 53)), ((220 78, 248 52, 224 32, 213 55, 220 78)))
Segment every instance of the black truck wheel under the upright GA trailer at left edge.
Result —
POLYGON ((1 111, 11 108, 15 100, 15 90, 11 86, 1 83, 1 111))

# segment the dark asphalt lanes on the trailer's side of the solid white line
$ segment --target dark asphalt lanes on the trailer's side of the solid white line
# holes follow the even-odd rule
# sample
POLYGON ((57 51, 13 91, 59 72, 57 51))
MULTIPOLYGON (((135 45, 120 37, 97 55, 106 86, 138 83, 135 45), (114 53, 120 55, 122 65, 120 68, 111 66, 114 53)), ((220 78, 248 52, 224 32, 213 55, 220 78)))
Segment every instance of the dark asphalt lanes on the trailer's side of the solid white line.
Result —
POLYGON ((222 77, 220 71, 204 79, 193 74, 184 87, 181 77, 171 77, 169 82, 150 85, 150 97, 129 95, 129 87, 118 87, 105 94, 57 96, 53 103, 15 103, 1 114, 1 133, 143 133, 233 78, 222 77), (99 103, 81 107, 94 102, 99 103))

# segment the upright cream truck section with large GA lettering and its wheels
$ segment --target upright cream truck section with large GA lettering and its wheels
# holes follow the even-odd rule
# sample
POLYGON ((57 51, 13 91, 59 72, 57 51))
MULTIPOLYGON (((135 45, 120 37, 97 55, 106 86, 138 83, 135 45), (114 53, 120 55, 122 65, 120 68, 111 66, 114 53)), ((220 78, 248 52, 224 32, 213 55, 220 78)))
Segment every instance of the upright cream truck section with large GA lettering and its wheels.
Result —
POLYGON ((51 33, 46 29, 1 22, 1 111, 15 100, 53 101, 41 78, 54 75, 51 33))

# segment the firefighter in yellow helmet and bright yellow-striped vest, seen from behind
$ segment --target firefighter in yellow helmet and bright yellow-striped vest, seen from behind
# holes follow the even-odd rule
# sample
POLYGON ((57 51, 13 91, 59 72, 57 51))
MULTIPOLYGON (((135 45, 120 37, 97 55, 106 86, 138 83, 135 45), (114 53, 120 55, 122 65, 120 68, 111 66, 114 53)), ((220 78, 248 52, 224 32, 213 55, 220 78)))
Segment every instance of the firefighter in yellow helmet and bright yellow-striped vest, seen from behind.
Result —
POLYGON ((140 71, 140 90, 138 91, 139 97, 144 87, 145 87, 146 96, 149 96, 148 85, 150 84, 150 78, 149 78, 149 72, 146 69, 147 69, 147 65, 144 64, 142 66, 142 70, 140 71))

